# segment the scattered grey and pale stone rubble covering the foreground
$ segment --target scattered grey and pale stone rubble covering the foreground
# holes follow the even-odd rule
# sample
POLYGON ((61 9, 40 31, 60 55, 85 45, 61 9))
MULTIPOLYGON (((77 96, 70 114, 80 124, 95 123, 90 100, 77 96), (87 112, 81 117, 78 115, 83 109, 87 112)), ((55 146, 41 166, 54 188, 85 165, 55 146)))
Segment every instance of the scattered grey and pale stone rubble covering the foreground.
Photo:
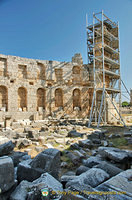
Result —
POLYGON ((17 123, 0 137, 0 200, 132 199, 132 151, 113 147, 104 130, 40 121, 17 123))

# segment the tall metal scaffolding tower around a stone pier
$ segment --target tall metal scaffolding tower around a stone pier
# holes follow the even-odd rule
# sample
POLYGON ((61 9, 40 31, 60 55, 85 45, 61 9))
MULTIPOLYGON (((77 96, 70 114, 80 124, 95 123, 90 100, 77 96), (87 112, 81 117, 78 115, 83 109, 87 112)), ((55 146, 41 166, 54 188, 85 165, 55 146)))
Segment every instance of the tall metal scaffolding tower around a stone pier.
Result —
MULTIPOLYGON (((93 77, 93 97, 91 103, 89 127, 92 122, 99 127, 108 122, 108 101, 125 125, 121 114, 121 77, 119 23, 109 19, 103 11, 93 13, 93 24, 87 29, 88 66, 93 77), (115 103, 118 99, 119 106, 115 103)), ((111 113, 112 114, 112 113, 111 113)), ((113 115, 113 114, 112 114, 113 115)))

